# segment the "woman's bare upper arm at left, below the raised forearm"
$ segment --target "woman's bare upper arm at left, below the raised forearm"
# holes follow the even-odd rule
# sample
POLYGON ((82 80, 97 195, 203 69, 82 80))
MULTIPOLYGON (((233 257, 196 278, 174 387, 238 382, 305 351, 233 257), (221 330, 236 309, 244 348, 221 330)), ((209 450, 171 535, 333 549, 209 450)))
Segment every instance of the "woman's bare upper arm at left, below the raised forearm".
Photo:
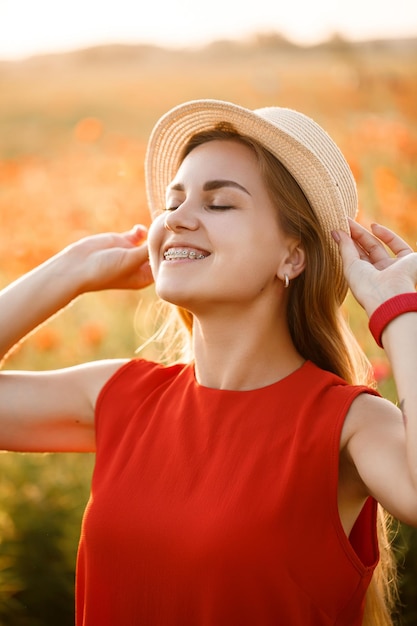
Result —
POLYGON ((94 409, 124 361, 0 375, 0 443, 18 452, 94 452, 94 409))

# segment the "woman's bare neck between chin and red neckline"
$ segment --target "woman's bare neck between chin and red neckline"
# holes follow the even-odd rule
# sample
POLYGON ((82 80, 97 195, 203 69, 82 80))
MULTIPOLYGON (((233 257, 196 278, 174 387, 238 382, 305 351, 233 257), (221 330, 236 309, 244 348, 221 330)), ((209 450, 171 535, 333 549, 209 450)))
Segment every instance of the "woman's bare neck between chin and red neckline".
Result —
POLYGON ((216 389, 265 387, 301 367, 285 311, 269 319, 252 312, 194 318, 193 347, 199 384, 216 389))

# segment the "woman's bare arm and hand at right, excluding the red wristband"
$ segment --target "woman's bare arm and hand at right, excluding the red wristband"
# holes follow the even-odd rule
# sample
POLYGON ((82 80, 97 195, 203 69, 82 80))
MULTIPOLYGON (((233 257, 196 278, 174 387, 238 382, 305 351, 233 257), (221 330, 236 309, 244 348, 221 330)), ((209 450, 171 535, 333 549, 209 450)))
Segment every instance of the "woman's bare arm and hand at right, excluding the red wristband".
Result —
MULTIPOLYGON (((352 238, 339 233, 346 278, 368 315, 395 295, 415 292, 417 283, 417 254, 388 229, 375 225, 372 230, 352 223, 352 238)), ((366 492, 417 526, 417 313, 392 321, 382 341, 399 408, 378 398, 358 398, 346 423, 347 450, 366 492)))

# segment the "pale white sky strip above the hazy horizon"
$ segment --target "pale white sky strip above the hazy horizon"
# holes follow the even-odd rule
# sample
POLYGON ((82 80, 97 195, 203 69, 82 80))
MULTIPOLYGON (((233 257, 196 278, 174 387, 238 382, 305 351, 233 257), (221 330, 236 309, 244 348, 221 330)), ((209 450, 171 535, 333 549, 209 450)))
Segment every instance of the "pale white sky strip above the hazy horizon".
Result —
POLYGON ((256 33, 299 44, 417 36, 417 0, 0 0, 0 59, 106 43, 189 47, 256 33))

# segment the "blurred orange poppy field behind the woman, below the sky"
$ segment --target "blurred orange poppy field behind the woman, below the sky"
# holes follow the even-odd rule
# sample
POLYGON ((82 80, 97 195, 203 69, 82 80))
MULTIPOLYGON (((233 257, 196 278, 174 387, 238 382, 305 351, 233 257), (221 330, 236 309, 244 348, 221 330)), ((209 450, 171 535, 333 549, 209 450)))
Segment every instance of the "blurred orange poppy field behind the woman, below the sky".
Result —
MULTIPOLYGON (((352 45, 335 38, 302 49, 269 35, 192 51, 93 48, 0 63, 0 93, 2 286, 86 234, 148 224, 147 137, 162 113, 195 98, 310 115, 347 156, 358 219, 381 221, 416 244, 417 40, 352 45)), ((8 367, 133 356, 153 331, 153 306, 152 288, 85 296, 20 346, 8 367)), ((381 390, 395 400, 388 364, 349 298, 346 314, 381 390)), ((0 622, 71 624, 92 459, 4 453, 0 463, 0 622)), ((415 535, 403 529, 401 536, 404 580, 412 572, 415 581, 415 535)), ((405 594, 406 626, 417 623, 417 606, 405 594)))

